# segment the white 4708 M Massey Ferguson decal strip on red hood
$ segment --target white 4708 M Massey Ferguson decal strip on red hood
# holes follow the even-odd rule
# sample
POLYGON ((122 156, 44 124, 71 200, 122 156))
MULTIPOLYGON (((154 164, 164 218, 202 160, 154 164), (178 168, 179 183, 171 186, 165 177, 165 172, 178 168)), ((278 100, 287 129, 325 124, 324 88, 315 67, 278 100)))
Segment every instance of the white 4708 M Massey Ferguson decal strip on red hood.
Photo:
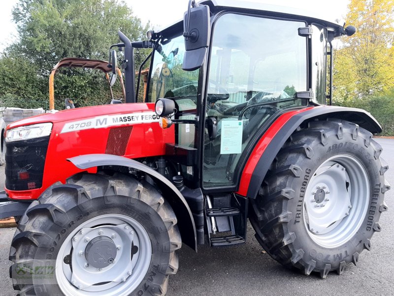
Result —
POLYGON ((90 128, 104 128, 113 125, 149 123, 157 121, 159 121, 159 116, 156 115, 155 112, 104 115, 90 119, 68 122, 60 133, 63 134, 90 128))

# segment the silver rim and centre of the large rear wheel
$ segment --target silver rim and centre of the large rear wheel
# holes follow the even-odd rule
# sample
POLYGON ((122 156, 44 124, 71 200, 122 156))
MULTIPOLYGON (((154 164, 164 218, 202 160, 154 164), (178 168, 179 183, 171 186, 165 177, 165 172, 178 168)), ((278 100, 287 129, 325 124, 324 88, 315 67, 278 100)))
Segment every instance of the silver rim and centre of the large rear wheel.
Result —
POLYGON ((369 178, 351 155, 336 155, 315 171, 305 189, 304 225, 318 245, 336 248, 360 229, 369 204, 369 178))

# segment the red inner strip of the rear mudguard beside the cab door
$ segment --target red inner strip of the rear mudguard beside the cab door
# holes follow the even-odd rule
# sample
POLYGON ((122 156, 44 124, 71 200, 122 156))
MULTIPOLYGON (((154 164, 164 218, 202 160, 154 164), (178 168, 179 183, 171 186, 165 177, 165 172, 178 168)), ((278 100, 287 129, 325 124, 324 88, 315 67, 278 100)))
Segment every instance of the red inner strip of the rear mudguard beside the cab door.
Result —
POLYGON ((264 135, 261 137, 256 147, 253 149, 252 153, 249 156, 248 161, 243 169, 241 180, 239 182, 239 188, 236 192, 239 195, 246 196, 250 184, 250 180, 252 178, 252 174, 256 168, 257 163, 260 160, 260 157, 263 155, 264 150, 267 148, 268 144, 271 140, 276 136, 277 132, 292 118, 294 115, 310 110, 313 107, 304 108, 297 111, 290 111, 279 116, 278 119, 275 120, 274 123, 267 129, 264 135))

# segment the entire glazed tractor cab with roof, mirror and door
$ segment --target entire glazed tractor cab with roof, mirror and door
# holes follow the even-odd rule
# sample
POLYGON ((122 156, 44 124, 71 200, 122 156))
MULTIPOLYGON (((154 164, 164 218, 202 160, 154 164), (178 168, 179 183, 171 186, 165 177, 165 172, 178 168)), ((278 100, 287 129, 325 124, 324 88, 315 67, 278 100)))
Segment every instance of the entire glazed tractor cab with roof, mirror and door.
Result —
POLYGON ((188 184, 236 188, 256 139, 278 115, 330 102, 331 40, 354 31, 287 7, 192 2, 183 21, 149 32, 146 101, 166 111, 173 101, 168 114, 158 113, 164 126, 176 124, 175 144, 187 153, 202 150, 193 164, 199 172, 183 168, 188 184))

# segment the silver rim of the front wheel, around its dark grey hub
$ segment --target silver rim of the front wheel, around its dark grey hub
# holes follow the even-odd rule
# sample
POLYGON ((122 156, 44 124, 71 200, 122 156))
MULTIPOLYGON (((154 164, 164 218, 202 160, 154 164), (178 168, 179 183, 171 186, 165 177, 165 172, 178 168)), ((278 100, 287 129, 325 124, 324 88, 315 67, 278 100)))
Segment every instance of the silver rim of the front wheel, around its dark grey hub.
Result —
POLYGON ((139 222, 120 214, 97 216, 67 236, 56 259, 57 283, 65 295, 127 296, 142 282, 151 257, 149 235, 139 222), (112 240, 116 257, 108 266, 96 268, 88 264, 85 251, 100 237, 112 240), (64 262, 66 256, 72 269, 64 262))

